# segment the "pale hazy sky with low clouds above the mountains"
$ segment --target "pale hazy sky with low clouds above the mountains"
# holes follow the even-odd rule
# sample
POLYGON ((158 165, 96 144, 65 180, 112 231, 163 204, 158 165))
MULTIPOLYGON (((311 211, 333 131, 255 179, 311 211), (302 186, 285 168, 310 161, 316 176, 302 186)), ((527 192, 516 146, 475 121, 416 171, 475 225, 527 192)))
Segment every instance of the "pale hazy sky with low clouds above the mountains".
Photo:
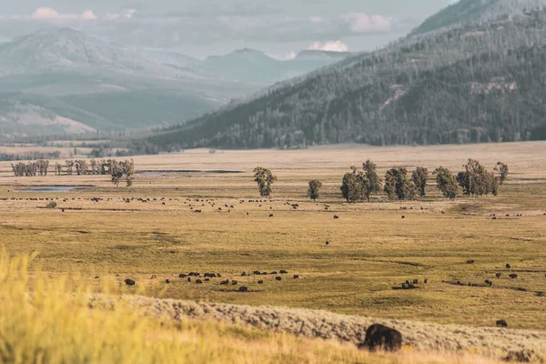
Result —
POLYGON ((107 41, 210 56, 251 47, 362 51, 406 34, 450 0, 0 0, 0 41, 67 26, 107 41))

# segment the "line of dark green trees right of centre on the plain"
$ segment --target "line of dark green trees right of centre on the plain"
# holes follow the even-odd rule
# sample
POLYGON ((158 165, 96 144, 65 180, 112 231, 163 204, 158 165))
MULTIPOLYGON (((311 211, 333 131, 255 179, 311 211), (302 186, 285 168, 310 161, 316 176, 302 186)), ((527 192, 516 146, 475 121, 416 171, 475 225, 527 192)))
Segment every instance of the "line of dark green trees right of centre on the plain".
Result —
MULTIPOLYGON (((493 171, 480 164, 478 160, 469 159, 463 166, 464 170, 457 175, 446 167, 438 167, 432 171, 436 187, 444 197, 455 199, 460 194, 467 197, 498 196, 499 189, 510 173, 506 163, 498 162, 493 171)), ((351 171, 343 176, 341 195, 347 202, 368 201, 372 195, 383 192, 390 201, 415 200, 427 196, 427 183, 430 172, 425 167, 416 167, 410 172, 406 167, 392 167, 385 177, 379 177, 378 167, 367 160, 362 169, 350 167, 351 171)), ((277 177, 270 169, 257 167, 254 169, 254 179, 258 184, 261 197, 270 197, 272 185, 277 177)), ((320 197, 322 182, 312 179, 308 182, 308 197, 317 200, 320 197)))

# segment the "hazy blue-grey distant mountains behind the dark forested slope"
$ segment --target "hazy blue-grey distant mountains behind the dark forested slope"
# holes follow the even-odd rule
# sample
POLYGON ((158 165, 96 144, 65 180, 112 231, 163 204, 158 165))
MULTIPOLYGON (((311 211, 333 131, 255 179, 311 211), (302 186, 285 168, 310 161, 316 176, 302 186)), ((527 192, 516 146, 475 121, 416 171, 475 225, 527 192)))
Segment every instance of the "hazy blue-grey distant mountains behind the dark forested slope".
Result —
POLYGON ((278 61, 241 50, 201 61, 47 28, 0 44, 0 136, 179 124, 343 56, 278 61))

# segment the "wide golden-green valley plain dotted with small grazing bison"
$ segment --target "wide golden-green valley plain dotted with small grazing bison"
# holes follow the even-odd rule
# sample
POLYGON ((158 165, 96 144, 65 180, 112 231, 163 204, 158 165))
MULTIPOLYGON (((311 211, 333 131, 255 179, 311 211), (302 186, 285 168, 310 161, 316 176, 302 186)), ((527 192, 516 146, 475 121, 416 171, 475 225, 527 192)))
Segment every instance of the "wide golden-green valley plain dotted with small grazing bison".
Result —
POLYGON ((49 277, 78 272, 78 285, 96 292, 107 278, 124 294, 472 327, 506 319, 513 329, 546 329, 545 143, 197 150, 135 163, 130 188, 112 187, 101 176, 12 177, 9 164, 0 164, 2 243, 10 254, 39 252, 33 266, 49 277), (368 158, 384 175, 393 166, 459 171, 469 157, 490 169, 499 160, 509 164, 500 197, 450 202, 432 180, 429 196, 415 202, 373 197, 369 204, 345 204, 340 196, 343 174, 368 158), (257 166, 271 168, 278 182, 271 200, 249 202, 260 199, 251 173, 257 166), (311 178, 324 184, 317 202, 306 197, 311 178), (21 192, 49 185, 86 188, 21 192), (58 207, 45 209, 46 198, 58 207), (281 269, 288 274, 241 277, 281 269), (178 278, 192 271, 222 278, 203 284, 178 278), (518 278, 509 278, 514 273, 518 278), (125 278, 136 286, 126 287, 125 278), (229 285, 220 285, 223 279, 229 285), (393 289, 407 279, 420 283, 393 289), (492 287, 468 285, 485 279, 492 287), (238 292, 242 285, 247 293, 238 292))

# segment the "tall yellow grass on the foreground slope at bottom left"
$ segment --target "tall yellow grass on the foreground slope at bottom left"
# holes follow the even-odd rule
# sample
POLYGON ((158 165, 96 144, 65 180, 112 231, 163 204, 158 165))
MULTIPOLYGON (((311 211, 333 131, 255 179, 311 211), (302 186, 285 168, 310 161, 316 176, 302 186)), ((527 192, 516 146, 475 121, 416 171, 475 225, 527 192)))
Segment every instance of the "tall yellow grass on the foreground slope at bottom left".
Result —
MULTIPOLYGON (((336 339, 306 339, 286 332, 273 333, 270 328, 229 325, 217 322, 218 318, 197 320, 197 315, 172 320, 166 313, 181 308, 181 303, 155 300, 150 305, 146 298, 113 296, 91 303, 90 291, 81 285, 71 288, 66 278, 47 278, 38 272, 29 284, 27 264, 28 258, 9 259, 5 251, 0 255, 2 363, 497 362, 476 353, 424 351, 409 345, 398 354, 370 353, 334 335, 331 337, 336 339), (150 306, 159 308, 159 318, 147 315, 150 306)), ((196 312, 207 310, 205 306, 196 310, 195 306, 196 312)), ((251 309, 239 311, 246 320, 256 313, 251 309)), ((263 317, 270 319, 271 314, 278 312, 268 310, 263 317)), ((303 318, 308 319, 305 315, 303 318)), ((286 314, 280 312, 280 319, 286 321, 286 314)), ((349 332, 351 328, 332 328, 332 332, 334 329, 349 332)))

